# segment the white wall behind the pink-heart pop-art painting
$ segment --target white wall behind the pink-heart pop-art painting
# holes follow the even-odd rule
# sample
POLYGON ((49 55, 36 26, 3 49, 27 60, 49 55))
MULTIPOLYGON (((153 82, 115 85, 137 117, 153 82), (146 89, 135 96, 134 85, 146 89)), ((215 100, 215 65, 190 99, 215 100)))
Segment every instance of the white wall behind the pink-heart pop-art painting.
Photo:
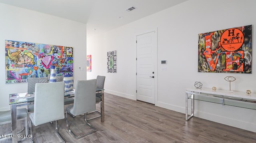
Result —
POLYGON ((26 92, 27 83, 5 84, 5 40, 74 48, 74 81, 86 79, 86 24, 0 3, 0 111, 10 109, 9 94, 26 92))

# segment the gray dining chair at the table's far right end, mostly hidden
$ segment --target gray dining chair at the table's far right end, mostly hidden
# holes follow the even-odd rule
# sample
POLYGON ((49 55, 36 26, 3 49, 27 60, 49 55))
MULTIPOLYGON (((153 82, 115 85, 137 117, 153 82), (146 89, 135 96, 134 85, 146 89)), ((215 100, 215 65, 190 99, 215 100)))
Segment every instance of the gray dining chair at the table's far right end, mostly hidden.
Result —
MULTIPOLYGON (((105 83, 105 76, 101 76, 101 75, 98 75, 97 78, 96 78, 96 87, 97 88, 100 88, 100 89, 104 89, 104 83, 105 83)), ((102 109, 102 93, 96 93, 96 104, 100 103, 100 109, 102 109)), ((100 110, 101 111, 101 110, 100 110)), ((91 119, 95 119, 95 118, 98 118, 98 117, 102 117, 102 114, 101 112, 98 111, 98 110, 95 110, 95 111, 92 111, 90 113, 99 113, 100 115, 96 116, 96 117, 92 117, 90 119, 87 119, 87 120, 91 120, 91 119)), ((87 114, 90 114, 90 113, 87 113, 87 114)))

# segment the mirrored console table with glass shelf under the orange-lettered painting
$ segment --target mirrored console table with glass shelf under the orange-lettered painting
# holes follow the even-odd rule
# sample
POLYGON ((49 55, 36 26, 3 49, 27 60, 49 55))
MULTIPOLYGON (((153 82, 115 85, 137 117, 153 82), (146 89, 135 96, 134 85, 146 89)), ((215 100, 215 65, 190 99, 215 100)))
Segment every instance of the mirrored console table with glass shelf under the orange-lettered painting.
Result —
POLYGON ((213 91, 210 88, 186 89, 186 121, 194 115, 194 100, 218 103, 235 107, 256 110, 256 94, 247 94, 246 91, 228 92, 227 90, 213 91), (191 114, 188 115, 188 100, 191 100, 191 114))

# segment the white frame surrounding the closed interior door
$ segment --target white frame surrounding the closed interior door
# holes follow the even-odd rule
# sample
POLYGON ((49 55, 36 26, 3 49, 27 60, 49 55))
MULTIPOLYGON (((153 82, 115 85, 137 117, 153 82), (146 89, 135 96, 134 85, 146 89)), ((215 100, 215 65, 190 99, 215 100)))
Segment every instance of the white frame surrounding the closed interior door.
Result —
MULTIPOLYGON (((158 28, 156 28, 156 29, 152 29, 152 30, 147 30, 147 32, 142 32, 142 33, 140 33, 140 34, 136 34, 136 36, 135 36, 135 39, 137 40, 137 36, 140 36, 140 35, 143 35, 143 34, 147 34, 147 33, 150 33, 150 32, 155 32, 156 33, 156 61, 155 61, 155 104, 154 105, 156 105, 156 103, 157 103, 157 101, 158 101, 158 28)), ((136 40, 135 40, 135 42, 136 42, 136 40)), ((135 56, 136 58, 137 58, 137 44, 136 44, 136 56, 135 56)), ((137 60, 136 60, 136 73, 137 73, 137 60)), ((135 75, 136 76, 136 84, 135 84, 135 89, 136 89, 136 91, 137 91, 137 75, 135 75)), ((137 100, 137 92, 135 91, 135 99, 137 100)))

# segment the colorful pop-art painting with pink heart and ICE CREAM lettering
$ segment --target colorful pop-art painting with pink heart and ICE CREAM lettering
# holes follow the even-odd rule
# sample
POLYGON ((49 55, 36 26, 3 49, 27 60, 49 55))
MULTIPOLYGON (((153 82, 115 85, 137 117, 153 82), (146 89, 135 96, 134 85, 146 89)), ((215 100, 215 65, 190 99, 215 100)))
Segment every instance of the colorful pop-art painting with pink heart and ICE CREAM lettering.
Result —
POLYGON ((6 83, 24 83, 28 77, 73 76, 73 48, 5 40, 6 83))

